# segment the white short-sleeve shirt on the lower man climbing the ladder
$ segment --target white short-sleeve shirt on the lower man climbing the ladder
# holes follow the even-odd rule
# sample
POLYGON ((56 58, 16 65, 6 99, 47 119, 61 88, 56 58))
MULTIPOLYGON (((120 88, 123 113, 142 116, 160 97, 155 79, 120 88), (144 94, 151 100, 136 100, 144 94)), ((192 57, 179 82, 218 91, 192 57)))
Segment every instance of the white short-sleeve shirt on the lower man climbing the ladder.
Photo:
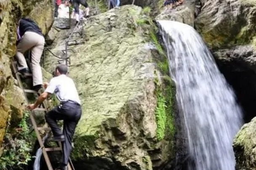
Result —
POLYGON ((66 75, 53 77, 45 89, 47 93, 55 93, 60 102, 72 100, 81 104, 74 81, 66 75))

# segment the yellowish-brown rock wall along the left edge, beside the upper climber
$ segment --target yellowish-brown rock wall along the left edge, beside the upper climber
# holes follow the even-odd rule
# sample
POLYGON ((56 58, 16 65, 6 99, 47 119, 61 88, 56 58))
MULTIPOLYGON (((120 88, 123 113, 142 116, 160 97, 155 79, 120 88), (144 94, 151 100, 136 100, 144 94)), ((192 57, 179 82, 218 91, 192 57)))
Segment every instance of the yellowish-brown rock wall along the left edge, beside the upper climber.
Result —
POLYGON ((16 127, 24 113, 23 92, 16 86, 10 69, 10 59, 16 51, 16 23, 21 16, 29 16, 47 33, 53 22, 52 9, 51 0, 0 2, 0 146, 8 122, 16 127))

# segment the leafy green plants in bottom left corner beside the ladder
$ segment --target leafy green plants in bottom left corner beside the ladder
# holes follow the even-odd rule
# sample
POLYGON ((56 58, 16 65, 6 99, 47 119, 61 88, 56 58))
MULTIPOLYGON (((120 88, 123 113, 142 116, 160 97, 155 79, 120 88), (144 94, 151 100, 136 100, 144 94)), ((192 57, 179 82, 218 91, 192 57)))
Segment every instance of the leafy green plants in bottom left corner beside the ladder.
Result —
POLYGON ((3 155, 0 157, 0 170, 24 170, 24 166, 31 160, 32 139, 29 136, 27 125, 28 117, 29 113, 24 112, 19 128, 15 132, 10 129, 7 130, 3 144, 3 155))

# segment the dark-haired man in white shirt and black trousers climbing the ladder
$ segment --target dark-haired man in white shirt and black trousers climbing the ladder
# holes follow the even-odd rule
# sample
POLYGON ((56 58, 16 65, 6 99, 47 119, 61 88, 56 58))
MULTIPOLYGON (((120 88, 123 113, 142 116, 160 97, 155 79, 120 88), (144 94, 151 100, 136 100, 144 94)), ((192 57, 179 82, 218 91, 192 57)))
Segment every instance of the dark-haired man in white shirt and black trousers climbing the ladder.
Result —
POLYGON ((62 163, 57 170, 67 170, 69 155, 72 149, 72 137, 75 128, 81 118, 82 110, 80 99, 75 87, 75 83, 67 77, 67 66, 60 64, 55 69, 55 77, 51 81, 44 84, 46 88, 34 104, 27 106, 29 110, 33 110, 39 106, 49 94, 56 94, 60 101, 60 105, 53 108, 45 115, 45 120, 51 127, 53 132, 53 140, 62 141, 62 163), (57 125, 57 120, 64 120, 63 133, 57 125))

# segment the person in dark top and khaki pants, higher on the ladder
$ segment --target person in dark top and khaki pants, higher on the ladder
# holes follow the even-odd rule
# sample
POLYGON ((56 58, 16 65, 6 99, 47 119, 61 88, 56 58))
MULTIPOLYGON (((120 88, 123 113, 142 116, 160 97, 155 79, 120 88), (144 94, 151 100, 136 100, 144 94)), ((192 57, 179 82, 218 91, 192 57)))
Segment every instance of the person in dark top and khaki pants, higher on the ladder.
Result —
POLYGON ((43 78, 40 67, 40 59, 43 53, 45 38, 37 24, 29 18, 21 18, 17 28, 16 59, 18 72, 24 75, 29 73, 24 53, 31 50, 33 88, 38 91, 42 88, 43 78))

